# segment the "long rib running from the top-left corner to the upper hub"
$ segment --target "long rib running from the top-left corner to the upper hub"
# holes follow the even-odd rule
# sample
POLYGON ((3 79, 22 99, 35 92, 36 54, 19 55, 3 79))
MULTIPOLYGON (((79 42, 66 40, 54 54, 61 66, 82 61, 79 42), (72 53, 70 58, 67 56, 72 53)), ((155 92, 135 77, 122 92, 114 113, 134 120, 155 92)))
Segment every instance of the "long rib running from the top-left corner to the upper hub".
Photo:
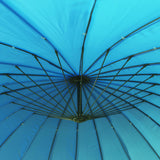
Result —
MULTIPOLYGON (((37 34, 39 34, 41 36, 41 38, 43 40, 45 40, 54 50, 58 51, 57 48, 53 45, 53 43, 47 39, 46 36, 44 36, 38 29, 36 29, 31 23, 29 23, 24 17, 22 17, 18 12, 16 12, 13 8, 11 8, 8 4, 6 4, 5 2, 1 1, 1 4, 3 6, 5 6, 8 10, 10 10, 15 16, 17 16, 24 24, 26 24, 27 26, 29 26, 32 30, 34 30, 37 34)), ((59 51, 58 51, 59 52, 59 51)), ((60 53, 60 52, 59 52, 60 53)), ((62 57, 62 59, 66 62, 66 64, 69 66, 69 68, 75 73, 75 71, 73 70, 73 68, 69 65, 69 63, 67 62, 67 60, 62 56, 62 54, 60 54, 60 56, 62 57)), ((68 71, 67 71, 68 72, 68 71)), ((69 74, 71 74, 70 72, 68 72, 69 74)))

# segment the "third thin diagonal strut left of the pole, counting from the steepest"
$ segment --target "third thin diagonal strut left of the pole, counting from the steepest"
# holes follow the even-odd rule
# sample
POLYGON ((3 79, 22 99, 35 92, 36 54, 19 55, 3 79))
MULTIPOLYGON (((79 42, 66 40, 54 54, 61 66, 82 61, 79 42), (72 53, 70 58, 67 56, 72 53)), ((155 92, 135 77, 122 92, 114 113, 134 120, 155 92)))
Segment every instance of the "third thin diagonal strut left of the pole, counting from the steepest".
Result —
MULTIPOLYGON (((22 73, 24 73, 23 71, 22 71, 22 69, 20 69, 18 66, 16 66, 16 68, 19 70, 19 71, 21 71, 22 73)), ((25 74, 25 73, 24 73, 25 74)), ((28 78, 28 79, 30 79, 38 88, 40 88, 41 90, 43 90, 43 92, 48 96, 48 97, 50 97, 52 100, 54 100, 56 103, 58 103, 57 102, 57 100, 54 98, 54 97, 52 97, 51 95, 49 95, 41 86, 39 86, 31 77, 29 77, 27 74, 26 74, 26 77, 28 78)), ((54 104, 53 103, 51 103, 50 101, 48 101, 48 103, 50 103, 50 104, 52 104, 53 106, 54 106, 54 104)), ((61 104, 60 104, 60 106, 62 107, 62 108, 64 108, 64 106, 62 106, 61 104)), ((73 110, 71 109, 71 111, 73 112, 73 110)), ((73 114, 74 114, 74 112, 73 112, 73 114)))

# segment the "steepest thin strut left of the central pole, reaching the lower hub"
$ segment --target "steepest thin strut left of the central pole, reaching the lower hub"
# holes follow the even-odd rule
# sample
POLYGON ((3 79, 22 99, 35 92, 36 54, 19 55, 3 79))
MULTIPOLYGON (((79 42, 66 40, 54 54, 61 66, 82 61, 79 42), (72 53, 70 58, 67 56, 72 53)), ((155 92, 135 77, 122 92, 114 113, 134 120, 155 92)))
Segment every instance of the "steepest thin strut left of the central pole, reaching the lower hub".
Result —
MULTIPOLYGON (((67 88, 68 88, 68 92, 69 92, 69 94, 70 94, 70 96, 71 96, 71 91, 70 91, 70 89, 69 89, 69 87, 68 87, 68 82, 67 82, 66 76, 65 76, 65 74, 64 74, 63 67, 62 67, 61 61, 60 61, 60 59, 59 59, 58 52, 57 52, 57 51, 55 51, 55 52, 56 52, 56 56, 57 56, 57 59, 58 59, 59 65, 60 65, 60 67, 61 67, 61 71, 62 71, 62 74, 63 74, 64 80, 65 80, 65 83, 66 83, 67 88)), ((73 97, 71 97, 71 100, 72 100, 72 103, 73 103, 73 107, 74 107, 74 109, 75 109, 75 113, 77 114, 77 112, 76 112, 76 106, 75 106, 75 103, 74 103, 73 97)), ((70 108, 70 109, 72 110, 72 108, 70 108)), ((72 111, 73 111, 73 110, 72 110, 72 111)), ((74 113, 74 111, 73 111, 73 113, 74 113)), ((75 113, 74 113, 74 114, 75 114, 75 113)))

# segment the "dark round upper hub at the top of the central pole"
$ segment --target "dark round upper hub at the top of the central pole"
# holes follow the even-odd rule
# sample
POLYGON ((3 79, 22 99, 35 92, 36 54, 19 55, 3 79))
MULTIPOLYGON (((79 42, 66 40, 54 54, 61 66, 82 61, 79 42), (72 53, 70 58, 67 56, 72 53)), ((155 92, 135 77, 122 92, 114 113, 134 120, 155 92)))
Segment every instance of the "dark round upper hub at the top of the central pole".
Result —
POLYGON ((78 76, 73 76, 69 78, 69 82, 72 84, 79 84, 80 82, 82 84, 86 84, 90 82, 90 78, 85 75, 82 75, 82 76, 78 75, 78 76))

